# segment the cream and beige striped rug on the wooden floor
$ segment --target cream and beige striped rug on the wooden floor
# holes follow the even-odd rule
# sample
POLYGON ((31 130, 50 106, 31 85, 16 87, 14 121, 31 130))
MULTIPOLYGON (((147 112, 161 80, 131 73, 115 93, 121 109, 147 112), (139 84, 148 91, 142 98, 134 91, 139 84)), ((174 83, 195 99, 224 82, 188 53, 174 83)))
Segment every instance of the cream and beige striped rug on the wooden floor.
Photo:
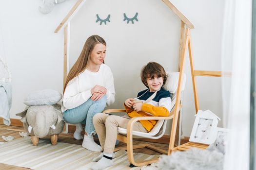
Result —
MULTIPOLYGON (((58 142, 51 145, 50 140, 39 140, 33 146, 30 137, 15 139, 0 145, 0 163, 30 168, 33 170, 90 170, 92 158, 99 153, 90 152, 81 145, 58 142)), ((126 151, 116 153, 114 166, 105 170, 140 170, 130 168, 126 151)), ((151 159, 154 156, 135 153, 135 159, 151 159)))

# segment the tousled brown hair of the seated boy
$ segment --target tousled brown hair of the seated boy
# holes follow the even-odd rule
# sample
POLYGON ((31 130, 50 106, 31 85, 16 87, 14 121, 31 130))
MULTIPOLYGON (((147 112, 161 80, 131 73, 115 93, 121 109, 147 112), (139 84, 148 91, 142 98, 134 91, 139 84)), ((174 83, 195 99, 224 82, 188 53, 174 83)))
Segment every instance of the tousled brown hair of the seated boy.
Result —
POLYGON ((141 69, 141 72, 140 72, 141 81, 147 88, 148 88, 147 78, 149 77, 154 78, 155 75, 163 78, 163 85, 164 85, 167 79, 167 75, 164 68, 160 64, 156 62, 149 62, 146 66, 144 66, 141 69))

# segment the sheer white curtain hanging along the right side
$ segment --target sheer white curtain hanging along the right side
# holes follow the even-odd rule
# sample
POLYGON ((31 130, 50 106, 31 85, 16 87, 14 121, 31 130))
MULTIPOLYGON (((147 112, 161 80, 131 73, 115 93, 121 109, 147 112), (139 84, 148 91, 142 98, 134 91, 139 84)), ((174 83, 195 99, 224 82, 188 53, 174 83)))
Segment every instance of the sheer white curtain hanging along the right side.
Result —
POLYGON ((226 0, 222 71, 223 122, 230 129, 224 170, 249 170, 252 0, 226 0))

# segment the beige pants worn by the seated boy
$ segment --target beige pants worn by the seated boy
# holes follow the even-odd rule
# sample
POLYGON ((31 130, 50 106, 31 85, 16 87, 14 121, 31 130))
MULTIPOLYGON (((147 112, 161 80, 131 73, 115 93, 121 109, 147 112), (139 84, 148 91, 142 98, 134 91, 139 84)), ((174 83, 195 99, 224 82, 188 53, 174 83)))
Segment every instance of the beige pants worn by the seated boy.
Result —
MULTIPOLYGON (((93 117, 93 124, 98 135, 99 143, 104 153, 113 153, 118 136, 118 127, 127 129, 130 119, 105 113, 97 113, 93 117)), ((139 121, 134 123, 134 131, 148 132, 139 121)))

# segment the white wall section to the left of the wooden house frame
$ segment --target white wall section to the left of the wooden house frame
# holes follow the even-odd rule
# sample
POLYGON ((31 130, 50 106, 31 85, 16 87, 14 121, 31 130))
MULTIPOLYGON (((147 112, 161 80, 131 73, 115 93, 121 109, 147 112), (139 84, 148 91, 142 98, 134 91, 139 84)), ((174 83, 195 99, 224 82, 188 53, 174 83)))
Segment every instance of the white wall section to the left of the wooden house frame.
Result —
MULTIPOLYGON (((23 99, 39 89, 62 89, 63 34, 54 30, 75 0, 58 4, 52 13, 42 15, 42 0, 0 0, 0 27, 5 55, 12 72, 13 104, 11 118, 25 105, 23 99)), ((1 40, 2 41, 2 40, 1 40)))

